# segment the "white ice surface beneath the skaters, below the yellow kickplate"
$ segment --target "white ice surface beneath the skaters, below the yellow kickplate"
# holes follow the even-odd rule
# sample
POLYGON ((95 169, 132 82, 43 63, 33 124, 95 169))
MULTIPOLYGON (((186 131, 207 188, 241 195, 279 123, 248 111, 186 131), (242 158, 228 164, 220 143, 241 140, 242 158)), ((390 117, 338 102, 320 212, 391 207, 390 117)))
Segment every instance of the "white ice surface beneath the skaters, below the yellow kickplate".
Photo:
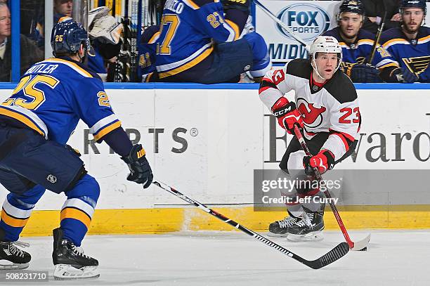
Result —
MULTIPOLYGON (((100 278, 79 281, 53 280, 52 237, 22 241, 31 244, 29 270, 49 271, 48 283, 33 285, 430 285, 430 230, 350 231, 353 240, 367 233, 367 252, 349 252, 320 270, 236 231, 91 235, 82 247, 98 259, 100 278)), ((311 260, 343 241, 340 231, 324 235, 320 242, 269 239, 311 260)))

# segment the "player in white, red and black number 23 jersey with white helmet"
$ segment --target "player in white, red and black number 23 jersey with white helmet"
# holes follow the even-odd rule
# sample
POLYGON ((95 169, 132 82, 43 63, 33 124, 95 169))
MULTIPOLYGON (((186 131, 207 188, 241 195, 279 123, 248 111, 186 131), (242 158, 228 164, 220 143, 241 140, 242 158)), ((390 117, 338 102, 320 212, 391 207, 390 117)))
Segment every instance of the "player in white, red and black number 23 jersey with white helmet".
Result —
MULTIPOLYGON (((313 157, 306 157, 294 136, 280 162, 292 179, 312 179, 313 168, 321 174, 344 160, 353 150, 360 129, 356 89, 339 70, 342 50, 334 37, 319 36, 311 45, 310 58, 292 60, 280 70, 266 73, 259 96, 289 134, 294 125, 303 128, 313 157), (285 93, 295 91, 289 102, 285 93)), ((295 188, 289 197, 320 195, 318 189, 295 188)), ((269 235, 292 240, 319 238, 324 229, 324 204, 313 202, 287 205, 289 216, 269 226, 269 235)))

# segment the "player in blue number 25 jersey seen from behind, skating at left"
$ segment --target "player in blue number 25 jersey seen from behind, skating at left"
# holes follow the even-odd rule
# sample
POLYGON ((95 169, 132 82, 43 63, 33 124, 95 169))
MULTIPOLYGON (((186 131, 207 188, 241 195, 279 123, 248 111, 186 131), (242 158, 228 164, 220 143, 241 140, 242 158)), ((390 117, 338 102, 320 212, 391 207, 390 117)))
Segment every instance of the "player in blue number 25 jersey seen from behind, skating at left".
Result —
POLYGON ((60 227, 53 230, 54 277, 98 277, 98 261, 79 249, 100 195, 95 178, 67 140, 82 119, 94 139, 122 156, 127 180, 148 188, 152 171, 142 145, 132 145, 112 111, 103 83, 82 61, 89 39, 82 25, 59 22, 51 35, 55 58, 30 67, 12 95, 0 105, 0 183, 9 190, 0 221, 3 269, 27 268, 30 254, 16 247, 45 190, 67 197, 60 227))

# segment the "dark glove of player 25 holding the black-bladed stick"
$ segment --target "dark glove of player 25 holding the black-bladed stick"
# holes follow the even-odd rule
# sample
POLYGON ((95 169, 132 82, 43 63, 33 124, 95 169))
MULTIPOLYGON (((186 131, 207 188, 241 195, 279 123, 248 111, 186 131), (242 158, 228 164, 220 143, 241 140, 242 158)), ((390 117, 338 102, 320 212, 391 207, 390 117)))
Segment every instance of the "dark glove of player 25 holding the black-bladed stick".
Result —
POLYGON ((141 144, 133 145, 130 154, 126 157, 121 157, 121 159, 126 162, 129 166, 130 174, 127 176, 128 181, 143 184, 143 188, 148 188, 152 183, 151 167, 146 160, 145 150, 143 150, 141 144))

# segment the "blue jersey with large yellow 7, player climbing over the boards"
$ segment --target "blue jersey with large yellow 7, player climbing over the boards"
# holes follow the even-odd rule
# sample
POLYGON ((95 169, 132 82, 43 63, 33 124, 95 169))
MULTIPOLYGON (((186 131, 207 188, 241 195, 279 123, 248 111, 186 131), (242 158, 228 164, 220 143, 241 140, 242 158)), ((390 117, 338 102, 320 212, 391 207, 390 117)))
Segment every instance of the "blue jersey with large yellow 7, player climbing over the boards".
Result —
POLYGON ((223 15, 219 0, 167 0, 157 40, 159 79, 194 67, 223 43, 240 36, 240 27, 223 15))

